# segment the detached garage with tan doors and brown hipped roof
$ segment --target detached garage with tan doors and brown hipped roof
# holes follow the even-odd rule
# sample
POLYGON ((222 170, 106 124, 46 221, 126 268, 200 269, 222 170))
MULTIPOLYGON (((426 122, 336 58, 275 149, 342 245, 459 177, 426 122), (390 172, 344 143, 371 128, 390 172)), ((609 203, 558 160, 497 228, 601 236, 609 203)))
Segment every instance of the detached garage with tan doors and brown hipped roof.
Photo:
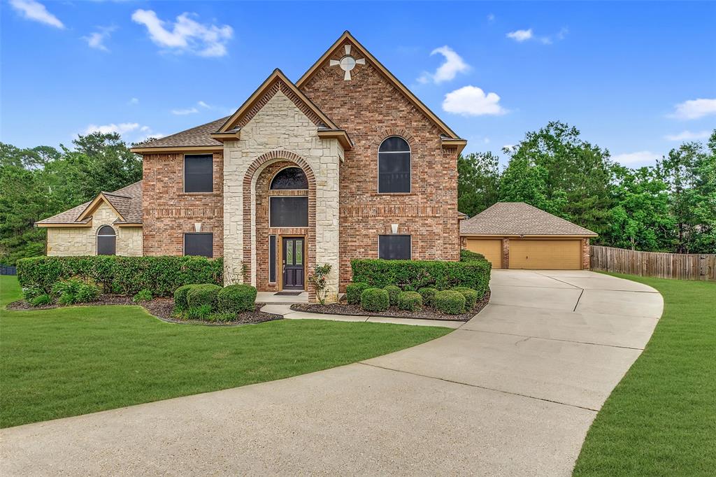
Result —
POLYGON ((596 233, 523 202, 498 202, 460 221, 463 249, 483 254, 494 269, 589 269, 596 233))

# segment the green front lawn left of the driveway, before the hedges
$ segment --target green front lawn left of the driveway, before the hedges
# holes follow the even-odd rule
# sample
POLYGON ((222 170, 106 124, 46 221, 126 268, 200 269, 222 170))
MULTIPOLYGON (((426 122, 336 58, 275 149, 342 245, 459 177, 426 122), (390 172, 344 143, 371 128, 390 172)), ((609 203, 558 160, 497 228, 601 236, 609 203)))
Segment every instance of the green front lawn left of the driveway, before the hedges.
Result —
POLYGON ((0 276, 0 288, 0 427, 278 380, 450 332, 322 320, 205 327, 120 306, 8 312, 17 280, 0 276))

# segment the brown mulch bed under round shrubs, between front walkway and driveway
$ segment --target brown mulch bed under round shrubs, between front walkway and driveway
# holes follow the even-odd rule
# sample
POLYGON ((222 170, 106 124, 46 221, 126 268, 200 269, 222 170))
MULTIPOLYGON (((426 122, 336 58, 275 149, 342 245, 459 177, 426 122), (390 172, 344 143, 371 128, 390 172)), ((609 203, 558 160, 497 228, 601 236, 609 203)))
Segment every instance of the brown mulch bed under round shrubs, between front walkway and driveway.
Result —
POLYGON ((397 307, 390 307, 384 312, 367 312, 360 305, 347 304, 345 302, 329 303, 329 304, 308 304, 296 303, 291 305, 291 309, 296 312, 321 313, 321 314, 352 314, 362 317, 390 317, 390 318, 415 318, 415 319, 449 319, 456 322, 466 322, 473 318, 475 314, 485 307, 490 301, 490 291, 488 290, 485 297, 475 303, 475 308, 468 313, 463 314, 444 314, 432 308, 423 308, 420 312, 406 312, 397 307))

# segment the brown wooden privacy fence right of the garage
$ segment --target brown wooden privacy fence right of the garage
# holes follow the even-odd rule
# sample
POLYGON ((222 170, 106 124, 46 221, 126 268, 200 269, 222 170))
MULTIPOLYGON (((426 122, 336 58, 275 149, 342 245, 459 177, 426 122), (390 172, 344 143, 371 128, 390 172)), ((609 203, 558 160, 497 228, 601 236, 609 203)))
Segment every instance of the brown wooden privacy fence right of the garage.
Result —
POLYGON ((716 280, 716 254, 666 254, 593 245, 591 269, 680 280, 716 280))

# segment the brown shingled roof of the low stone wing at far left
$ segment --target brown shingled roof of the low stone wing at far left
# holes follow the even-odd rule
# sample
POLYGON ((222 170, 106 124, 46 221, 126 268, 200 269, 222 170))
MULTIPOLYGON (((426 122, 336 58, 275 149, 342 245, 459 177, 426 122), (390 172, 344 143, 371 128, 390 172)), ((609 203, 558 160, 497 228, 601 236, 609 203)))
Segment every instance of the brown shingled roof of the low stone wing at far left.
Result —
POLYGON ((89 226, 92 213, 101 203, 107 203, 117 212, 117 225, 142 223, 142 181, 114 192, 100 192, 92 201, 35 222, 36 226, 89 226))

